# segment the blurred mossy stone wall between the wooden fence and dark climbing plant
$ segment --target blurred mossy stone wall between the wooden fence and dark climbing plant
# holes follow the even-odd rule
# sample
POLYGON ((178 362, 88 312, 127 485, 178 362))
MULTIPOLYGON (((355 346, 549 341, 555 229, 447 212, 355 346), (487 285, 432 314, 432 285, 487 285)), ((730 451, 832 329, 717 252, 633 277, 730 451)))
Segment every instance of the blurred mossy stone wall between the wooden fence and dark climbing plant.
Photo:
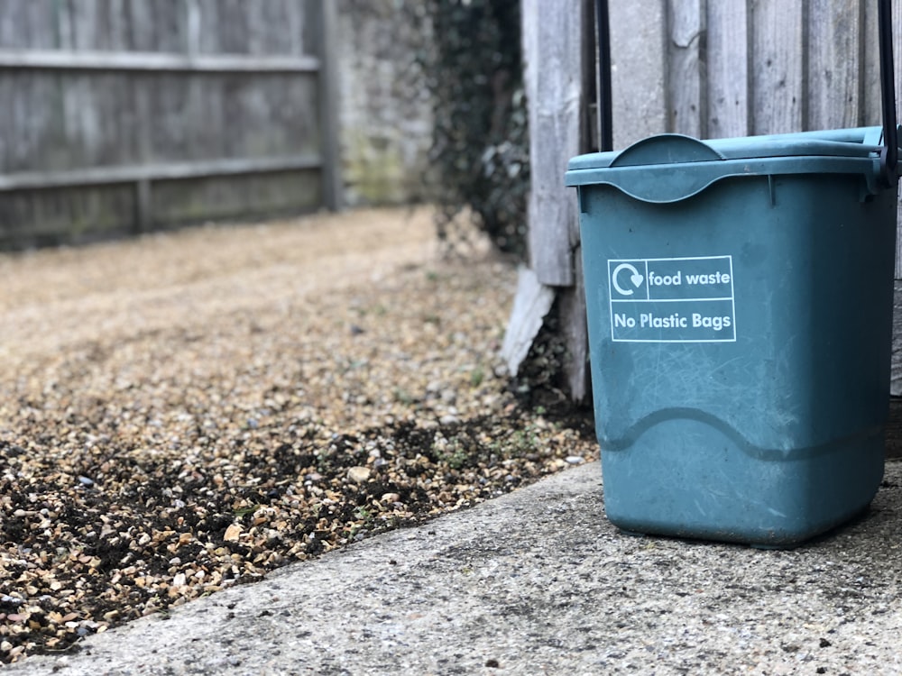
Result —
POLYGON ((426 44, 423 22, 405 9, 407 0, 337 2, 345 205, 418 201, 425 194, 432 132, 416 60, 426 44))

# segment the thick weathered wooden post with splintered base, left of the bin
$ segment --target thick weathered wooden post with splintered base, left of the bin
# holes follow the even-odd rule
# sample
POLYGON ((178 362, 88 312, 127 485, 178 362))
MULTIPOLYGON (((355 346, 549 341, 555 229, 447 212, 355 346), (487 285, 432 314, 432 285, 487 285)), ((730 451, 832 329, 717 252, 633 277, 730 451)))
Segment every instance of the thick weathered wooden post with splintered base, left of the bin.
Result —
POLYGON ((533 283, 529 285, 531 293, 522 285, 518 289, 515 305, 519 302, 530 309, 511 317, 507 339, 511 343, 511 366, 519 366, 515 362, 529 351, 551 297, 557 296, 561 330, 570 355, 565 377, 571 397, 577 401, 582 401, 588 391, 588 336, 576 200, 572 189, 564 187, 563 175, 568 160, 588 150, 590 121, 585 93, 594 77, 594 55, 588 49, 591 5, 584 0, 526 0, 522 7, 532 187, 528 207, 529 275, 533 283), (528 303, 527 296, 541 302, 528 303), (512 343, 516 343, 517 351, 512 343))

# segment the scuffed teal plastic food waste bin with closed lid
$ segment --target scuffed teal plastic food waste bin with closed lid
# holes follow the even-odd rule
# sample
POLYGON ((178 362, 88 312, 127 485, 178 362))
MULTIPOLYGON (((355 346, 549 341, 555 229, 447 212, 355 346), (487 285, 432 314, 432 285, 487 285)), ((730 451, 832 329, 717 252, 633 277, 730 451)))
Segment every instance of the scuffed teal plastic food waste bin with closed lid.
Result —
POLYGON ((881 139, 665 134, 570 161, 613 524, 790 547, 868 507, 896 242, 881 139))

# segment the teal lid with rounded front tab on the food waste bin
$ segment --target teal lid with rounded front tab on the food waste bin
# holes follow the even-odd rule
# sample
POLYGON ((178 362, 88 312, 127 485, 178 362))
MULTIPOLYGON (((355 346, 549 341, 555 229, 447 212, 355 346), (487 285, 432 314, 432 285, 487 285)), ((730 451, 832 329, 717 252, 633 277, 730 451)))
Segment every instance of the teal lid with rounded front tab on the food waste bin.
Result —
POLYGON ((659 134, 623 151, 573 158, 566 185, 606 184, 645 202, 668 203, 728 177, 851 173, 863 175, 869 191, 877 193, 882 137, 881 127, 711 141, 659 134))

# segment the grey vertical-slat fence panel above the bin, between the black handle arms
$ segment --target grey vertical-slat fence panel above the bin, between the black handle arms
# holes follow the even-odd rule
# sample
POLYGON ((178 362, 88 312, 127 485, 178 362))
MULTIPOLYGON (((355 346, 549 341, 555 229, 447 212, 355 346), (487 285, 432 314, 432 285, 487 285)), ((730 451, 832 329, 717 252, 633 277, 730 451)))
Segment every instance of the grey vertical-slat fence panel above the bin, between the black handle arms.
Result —
MULTIPOLYGON (((611 3, 614 145, 661 132, 723 138, 879 123, 872 5, 611 3)), ((895 34, 899 62, 902 26, 895 34)))

